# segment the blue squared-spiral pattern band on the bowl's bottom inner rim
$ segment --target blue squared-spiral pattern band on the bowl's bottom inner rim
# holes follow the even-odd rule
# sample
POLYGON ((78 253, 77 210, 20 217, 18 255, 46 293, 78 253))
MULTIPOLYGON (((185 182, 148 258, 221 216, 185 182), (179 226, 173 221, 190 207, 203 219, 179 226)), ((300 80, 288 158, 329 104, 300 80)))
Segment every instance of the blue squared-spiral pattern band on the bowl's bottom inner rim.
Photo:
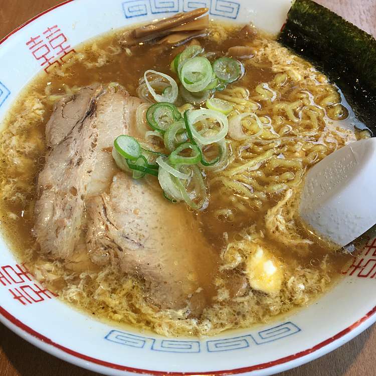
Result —
MULTIPOLYGON (((292 334, 296 334, 301 329, 288 321, 269 329, 261 330, 257 333, 242 335, 232 338, 221 338, 206 341, 208 352, 240 350, 252 345, 260 345, 267 342, 276 341, 292 334)), ((104 339, 122 344, 125 346, 146 348, 153 351, 164 352, 201 352, 199 341, 179 341, 174 339, 156 339, 143 337, 141 335, 126 333, 120 330, 111 330, 104 339)), ((203 349, 204 350, 204 349, 203 349)))

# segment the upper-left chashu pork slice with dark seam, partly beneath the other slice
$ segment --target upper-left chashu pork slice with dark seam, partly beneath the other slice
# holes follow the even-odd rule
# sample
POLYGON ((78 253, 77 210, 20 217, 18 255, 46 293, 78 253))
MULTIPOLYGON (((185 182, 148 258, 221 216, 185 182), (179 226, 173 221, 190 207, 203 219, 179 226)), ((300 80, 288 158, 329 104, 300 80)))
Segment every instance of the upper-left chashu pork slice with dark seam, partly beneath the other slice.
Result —
POLYGON ((46 125, 50 149, 38 178, 35 209, 34 234, 41 252, 77 259, 85 199, 108 189, 117 171, 113 140, 127 132, 140 103, 121 89, 92 85, 55 104, 46 125))

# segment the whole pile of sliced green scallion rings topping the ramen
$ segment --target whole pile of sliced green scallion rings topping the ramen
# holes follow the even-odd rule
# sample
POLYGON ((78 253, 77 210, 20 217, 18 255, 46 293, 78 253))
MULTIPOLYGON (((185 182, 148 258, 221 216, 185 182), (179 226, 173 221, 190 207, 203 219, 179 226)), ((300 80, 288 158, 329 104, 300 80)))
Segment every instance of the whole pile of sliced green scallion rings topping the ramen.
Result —
POLYGON ((260 119, 248 113, 232 117, 229 132, 226 115, 233 112, 233 104, 214 98, 214 93, 241 78, 244 66, 229 57, 221 57, 212 64, 207 57, 212 58, 213 53, 203 53, 201 46, 190 46, 171 61, 170 70, 178 76, 179 88, 173 78, 154 70, 145 71, 140 79, 139 96, 149 102, 152 96, 157 103, 139 106, 137 123, 145 139, 153 137, 157 150, 161 139, 169 155, 127 135, 117 137, 112 149, 121 170, 132 171, 135 179, 146 173, 157 176, 167 200, 184 201, 195 210, 204 210, 209 203, 204 170, 219 171, 229 163, 231 145, 228 147, 227 134, 239 131, 245 116, 254 116, 259 125, 251 138, 262 132, 260 119), (176 101, 179 109, 173 104, 176 101), (208 108, 193 109, 204 103, 208 108), (144 128, 145 114, 152 130, 144 128))

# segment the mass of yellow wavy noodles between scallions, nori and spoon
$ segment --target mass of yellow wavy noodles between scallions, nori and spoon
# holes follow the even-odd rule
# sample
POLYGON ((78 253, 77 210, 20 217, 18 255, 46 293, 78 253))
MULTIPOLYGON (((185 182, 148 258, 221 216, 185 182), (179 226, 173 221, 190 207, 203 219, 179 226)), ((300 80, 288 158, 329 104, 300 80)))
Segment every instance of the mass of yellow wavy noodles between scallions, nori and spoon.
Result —
MULTIPOLYGON (((356 139, 353 131, 330 124, 330 119, 341 120, 348 112, 324 75, 277 42, 267 40, 246 64, 265 64, 265 58, 275 73, 271 81, 252 91, 233 84, 216 94, 234 104, 230 117, 251 112, 264 123, 257 140, 232 141, 232 163, 220 173, 221 178, 211 181, 215 186, 220 182, 227 186, 253 210, 260 208, 260 202, 270 201, 270 195, 298 187, 307 167, 356 139)), ((244 122, 242 125, 248 131, 244 122)))

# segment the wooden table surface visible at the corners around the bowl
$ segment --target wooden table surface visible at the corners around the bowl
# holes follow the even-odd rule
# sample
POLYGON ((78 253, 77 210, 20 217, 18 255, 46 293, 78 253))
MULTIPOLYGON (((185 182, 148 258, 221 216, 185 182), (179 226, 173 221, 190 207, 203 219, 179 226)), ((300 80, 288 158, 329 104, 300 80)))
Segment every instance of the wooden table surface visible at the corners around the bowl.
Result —
MULTIPOLYGON (((99 0, 92 0, 99 1, 99 0)), ((105 4, 105 0, 102 0, 105 4)), ((376 36, 376 0, 316 0, 376 36)), ((0 39, 60 0, 0 0, 0 39)), ((343 312, 346 314, 346 312, 343 312)), ((339 349, 279 376, 376 375, 376 326, 339 349)), ((1 376, 95 376, 34 347, 0 324, 1 376)))

